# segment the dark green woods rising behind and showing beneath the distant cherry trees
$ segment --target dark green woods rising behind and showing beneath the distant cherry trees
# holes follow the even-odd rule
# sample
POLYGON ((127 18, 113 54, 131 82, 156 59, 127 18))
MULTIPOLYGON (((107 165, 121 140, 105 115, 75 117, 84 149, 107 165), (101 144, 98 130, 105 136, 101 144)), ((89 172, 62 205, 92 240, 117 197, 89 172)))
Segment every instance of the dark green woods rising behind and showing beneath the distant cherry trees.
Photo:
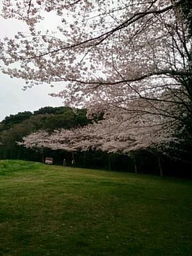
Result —
MULTIPOLYGON (((72 154, 63 150, 33 150, 17 145, 22 137, 39 129, 49 132, 54 129, 70 129, 84 126, 92 121, 86 118, 85 109, 70 107, 43 107, 34 113, 30 111, 19 112, 16 115, 6 116, 0 123, 0 159, 23 159, 27 161, 42 162, 45 157, 53 157, 54 164, 62 165, 63 158, 67 165, 71 166, 72 154)), ((104 153, 101 151, 76 152, 76 167, 92 169, 135 172, 159 175, 161 168, 164 175, 191 178, 190 153, 182 153, 179 157, 165 157, 161 155, 161 167, 159 166, 159 154, 149 151, 138 151, 133 158, 126 155, 104 153), (181 160, 183 159, 183 161, 181 160)))

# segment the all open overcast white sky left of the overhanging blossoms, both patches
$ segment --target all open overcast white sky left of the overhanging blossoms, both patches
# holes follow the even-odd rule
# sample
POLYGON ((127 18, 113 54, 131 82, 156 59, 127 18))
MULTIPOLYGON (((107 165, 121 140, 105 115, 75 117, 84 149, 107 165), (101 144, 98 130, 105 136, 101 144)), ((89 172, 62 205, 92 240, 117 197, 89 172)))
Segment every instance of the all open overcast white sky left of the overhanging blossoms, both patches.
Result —
MULTIPOLYGON (((0 10, 1 10, 0 0, 0 10)), ((17 20, 4 20, 0 16, 0 37, 12 36, 19 30, 26 30, 25 25, 17 20)), ((5 116, 17 114, 22 111, 37 110, 45 106, 62 106, 62 99, 53 98, 48 94, 62 90, 62 84, 52 88, 49 85, 37 85, 27 91, 22 91, 25 81, 17 78, 10 78, 0 71, 0 121, 5 116)))

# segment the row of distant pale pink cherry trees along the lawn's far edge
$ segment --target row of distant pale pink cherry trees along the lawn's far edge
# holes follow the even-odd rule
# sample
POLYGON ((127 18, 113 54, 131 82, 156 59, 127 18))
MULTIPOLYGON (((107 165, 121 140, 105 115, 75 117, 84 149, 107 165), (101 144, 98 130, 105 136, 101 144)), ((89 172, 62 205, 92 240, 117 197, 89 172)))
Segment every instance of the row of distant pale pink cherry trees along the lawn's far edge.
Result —
MULTIPOLYGON (((19 144, 29 148, 38 145, 52 150, 66 150, 72 154, 76 151, 84 151, 85 153, 89 150, 124 154, 133 158, 135 173, 137 173, 135 152, 137 153, 138 150, 143 149, 153 150, 154 148, 156 148, 156 152, 161 152, 163 148, 165 154, 165 146, 169 148, 170 143, 172 145, 178 143, 178 138, 173 133, 173 127, 165 127, 166 133, 164 133, 162 129, 164 124, 167 125, 167 121, 154 119, 153 115, 148 115, 144 119, 143 116, 133 116, 131 114, 127 118, 125 112, 124 116, 122 114, 118 119, 115 119, 115 117, 113 119, 108 118, 78 129, 60 129, 51 134, 44 131, 36 132, 23 138, 23 142, 19 144), (114 133, 114 130, 116 133, 114 133)), ((159 170, 163 175, 160 161, 159 170)))

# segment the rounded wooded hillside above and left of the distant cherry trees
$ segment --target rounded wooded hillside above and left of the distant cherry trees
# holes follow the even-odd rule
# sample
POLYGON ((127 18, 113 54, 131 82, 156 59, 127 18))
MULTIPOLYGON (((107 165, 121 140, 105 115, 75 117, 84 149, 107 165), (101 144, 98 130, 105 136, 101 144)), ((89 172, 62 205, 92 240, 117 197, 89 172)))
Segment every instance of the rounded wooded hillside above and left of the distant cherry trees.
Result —
POLYGON ((34 113, 24 111, 16 115, 6 116, 0 122, 0 158, 39 161, 39 153, 20 147, 15 141, 21 141, 22 137, 39 129, 49 131, 60 128, 70 129, 90 122, 86 118, 85 109, 76 109, 74 112, 69 107, 44 107, 34 111, 34 113))

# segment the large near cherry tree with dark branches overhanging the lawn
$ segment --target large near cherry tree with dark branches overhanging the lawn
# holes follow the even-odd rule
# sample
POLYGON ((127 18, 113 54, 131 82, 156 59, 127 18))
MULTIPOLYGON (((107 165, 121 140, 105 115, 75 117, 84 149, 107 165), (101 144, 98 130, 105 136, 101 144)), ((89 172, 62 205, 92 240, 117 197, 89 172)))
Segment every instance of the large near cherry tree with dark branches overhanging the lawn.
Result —
POLYGON ((187 3, 24 0, 14 5, 4 0, 4 18, 26 22, 30 32, 1 40, 0 59, 9 66, 2 71, 25 79, 26 87, 63 82, 63 91, 53 96, 83 105, 90 118, 104 114, 94 129, 108 151, 162 145, 183 130, 191 141, 187 3), (60 23, 54 31, 43 31, 41 23, 51 13, 60 23), (115 139, 117 132, 124 141, 115 139))

